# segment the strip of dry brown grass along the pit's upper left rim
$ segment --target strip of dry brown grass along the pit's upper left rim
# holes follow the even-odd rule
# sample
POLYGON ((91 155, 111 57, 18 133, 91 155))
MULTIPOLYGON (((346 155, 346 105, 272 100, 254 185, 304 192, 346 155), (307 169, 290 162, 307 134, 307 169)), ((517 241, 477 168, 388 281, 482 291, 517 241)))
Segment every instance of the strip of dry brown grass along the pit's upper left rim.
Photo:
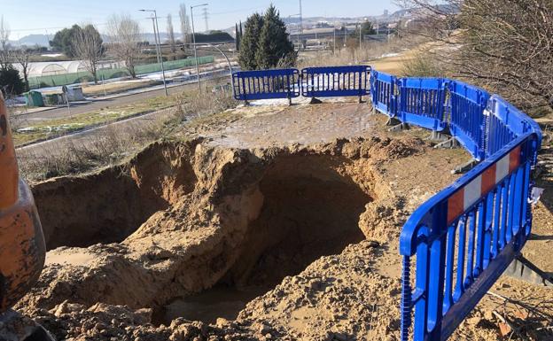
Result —
POLYGON ((40 153, 19 152, 19 168, 28 182, 66 174, 82 174, 99 167, 113 166, 131 158, 144 145, 166 139, 183 125, 202 116, 236 106, 230 93, 205 91, 171 97, 171 114, 147 125, 130 123, 124 133, 106 128, 107 133, 86 141, 64 143, 40 153))

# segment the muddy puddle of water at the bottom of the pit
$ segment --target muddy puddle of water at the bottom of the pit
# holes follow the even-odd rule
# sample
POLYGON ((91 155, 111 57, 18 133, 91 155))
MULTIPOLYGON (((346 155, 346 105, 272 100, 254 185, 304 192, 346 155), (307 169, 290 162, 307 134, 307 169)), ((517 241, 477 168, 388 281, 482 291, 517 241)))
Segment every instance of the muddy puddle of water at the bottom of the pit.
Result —
POLYGON ((259 286, 237 289, 218 285, 193 296, 176 298, 165 306, 165 311, 158 317, 158 322, 168 325, 178 317, 206 323, 214 323, 219 317, 230 321, 236 320, 238 313, 249 301, 270 289, 270 287, 259 286))

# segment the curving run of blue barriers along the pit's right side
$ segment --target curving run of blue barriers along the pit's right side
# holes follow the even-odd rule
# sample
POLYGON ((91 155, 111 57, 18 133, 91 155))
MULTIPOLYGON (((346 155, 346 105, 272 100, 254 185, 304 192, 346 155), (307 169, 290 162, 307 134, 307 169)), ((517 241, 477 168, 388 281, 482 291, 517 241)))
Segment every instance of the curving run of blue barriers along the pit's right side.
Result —
MULTIPOLYGON (((331 80, 332 68, 308 68, 301 74, 307 81, 302 89, 306 97, 343 90, 331 80)), ((236 81, 235 92, 244 88, 236 81)), ((362 91, 364 85, 358 81, 354 90, 362 91)), ((342 96, 358 96, 349 90, 342 96)), ((270 91, 253 92, 259 98, 274 96, 270 91)), ((444 340, 530 236, 530 176, 541 147, 541 130, 501 97, 461 81, 398 79, 372 70, 370 95, 378 112, 402 123, 449 130, 482 161, 420 205, 401 231, 401 340, 444 340)))

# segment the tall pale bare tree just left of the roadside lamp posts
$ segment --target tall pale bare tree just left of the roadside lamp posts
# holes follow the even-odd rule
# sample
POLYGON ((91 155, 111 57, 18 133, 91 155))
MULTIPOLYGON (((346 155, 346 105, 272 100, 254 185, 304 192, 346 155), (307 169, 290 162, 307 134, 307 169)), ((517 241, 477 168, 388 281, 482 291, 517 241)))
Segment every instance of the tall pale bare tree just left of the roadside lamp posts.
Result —
POLYGON ((113 14, 107 22, 109 49, 125 63, 129 74, 136 78, 136 59, 140 54, 140 25, 129 14, 113 14))

